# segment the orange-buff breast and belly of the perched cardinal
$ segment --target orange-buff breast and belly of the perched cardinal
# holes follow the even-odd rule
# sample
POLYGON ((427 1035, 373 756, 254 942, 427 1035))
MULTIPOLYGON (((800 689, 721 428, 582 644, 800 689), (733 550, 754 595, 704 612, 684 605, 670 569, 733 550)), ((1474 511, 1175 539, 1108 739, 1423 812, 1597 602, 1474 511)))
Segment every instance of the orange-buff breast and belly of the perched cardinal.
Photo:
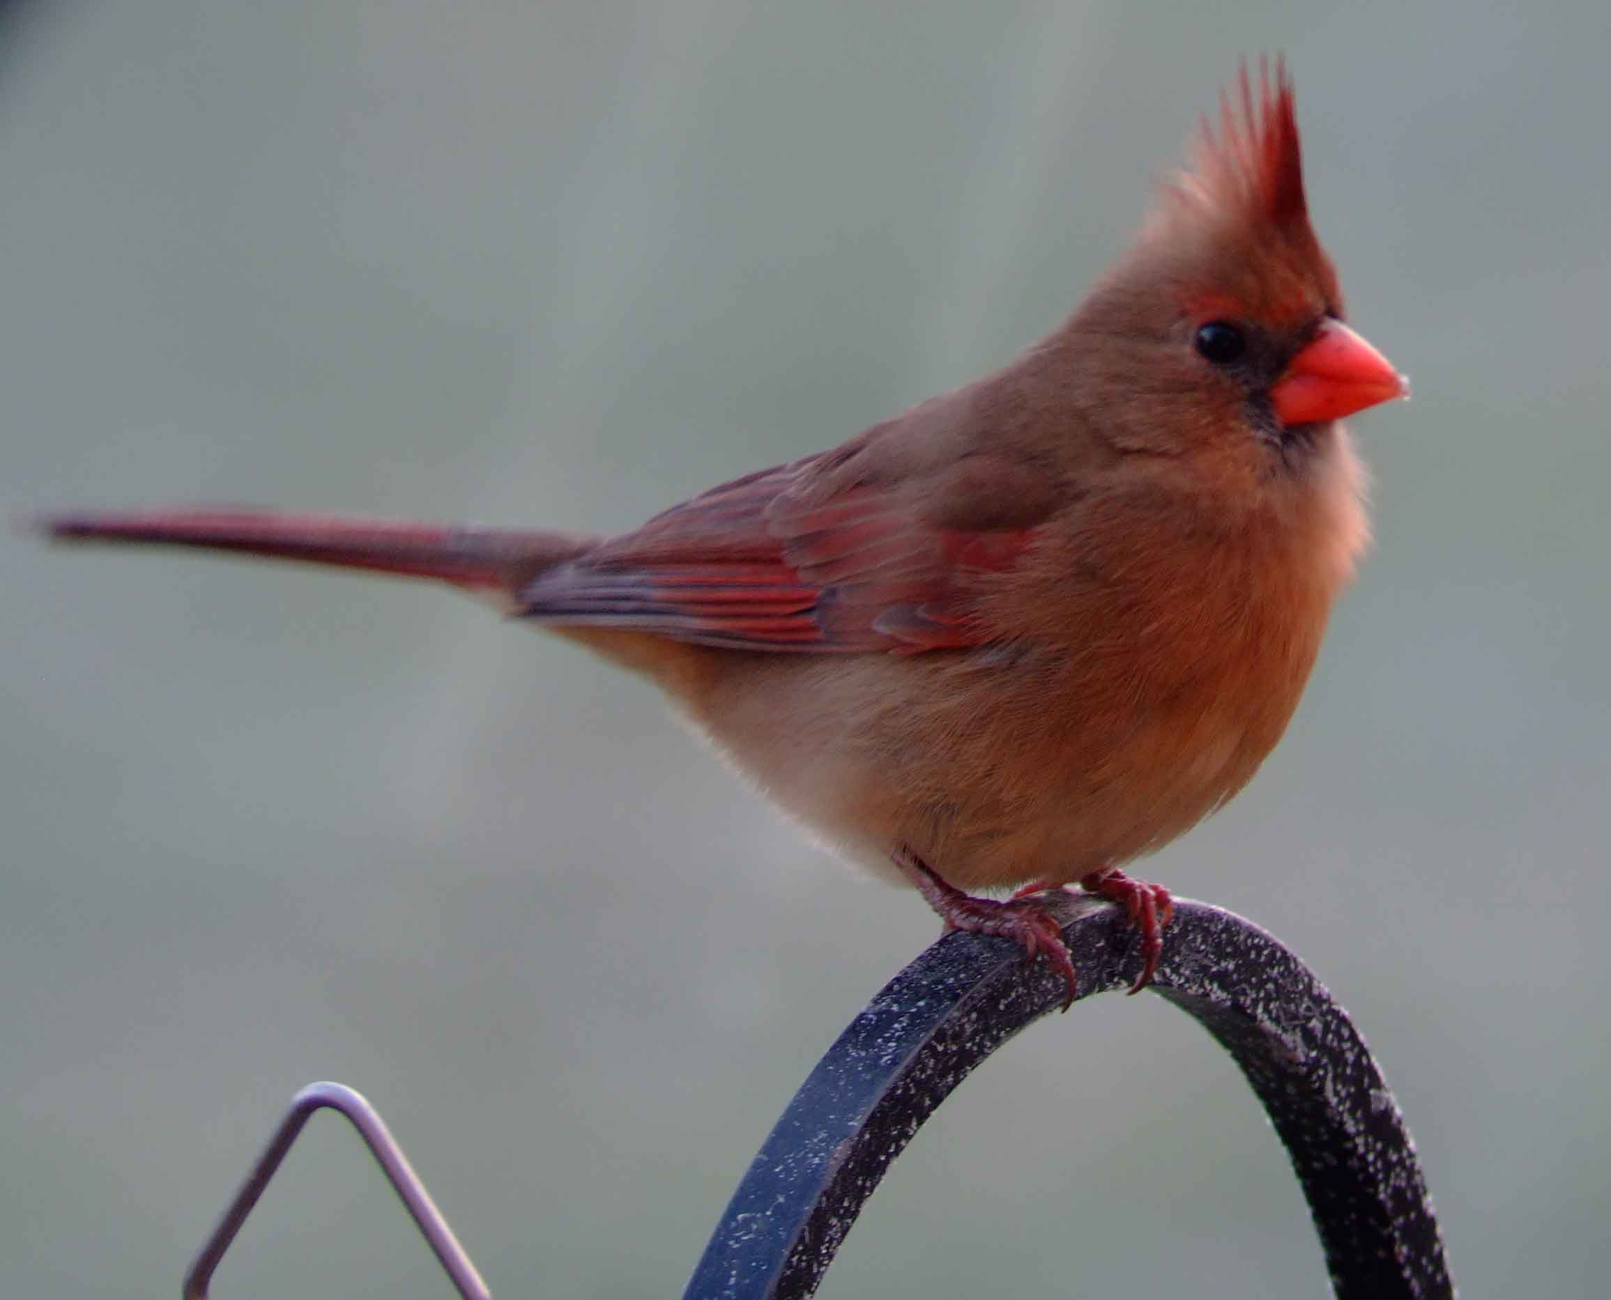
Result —
POLYGON ((847 857, 976 889, 1186 831, 1281 738, 1331 590, 1237 548, 1046 590, 1031 635, 921 656, 710 652, 693 720, 847 857))

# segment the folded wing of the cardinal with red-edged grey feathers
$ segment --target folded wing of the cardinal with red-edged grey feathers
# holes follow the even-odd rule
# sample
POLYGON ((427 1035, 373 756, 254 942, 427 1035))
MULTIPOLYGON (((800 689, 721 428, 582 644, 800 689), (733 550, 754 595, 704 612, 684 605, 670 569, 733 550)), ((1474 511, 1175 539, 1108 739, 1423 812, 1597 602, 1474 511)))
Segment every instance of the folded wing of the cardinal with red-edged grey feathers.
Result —
POLYGON ((543 573, 524 612, 752 651, 915 654, 989 640, 970 577, 1004 569, 1029 530, 921 522, 910 495, 852 482, 815 499, 823 457, 723 483, 543 573))

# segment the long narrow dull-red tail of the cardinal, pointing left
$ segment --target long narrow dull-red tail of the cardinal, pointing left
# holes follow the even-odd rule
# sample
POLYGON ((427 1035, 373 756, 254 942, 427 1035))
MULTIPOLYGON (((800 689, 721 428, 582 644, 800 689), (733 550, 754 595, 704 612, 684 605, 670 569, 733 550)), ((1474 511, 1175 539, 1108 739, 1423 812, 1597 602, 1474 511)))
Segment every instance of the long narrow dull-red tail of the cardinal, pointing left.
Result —
POLYGON ((348 519, 259 509, 89 511, 34 520, 61 541, 193 546, 250 556, 369 569, 456 586, 519 593, 593 538, 506 528, 464 528, 400 519, 348 519))

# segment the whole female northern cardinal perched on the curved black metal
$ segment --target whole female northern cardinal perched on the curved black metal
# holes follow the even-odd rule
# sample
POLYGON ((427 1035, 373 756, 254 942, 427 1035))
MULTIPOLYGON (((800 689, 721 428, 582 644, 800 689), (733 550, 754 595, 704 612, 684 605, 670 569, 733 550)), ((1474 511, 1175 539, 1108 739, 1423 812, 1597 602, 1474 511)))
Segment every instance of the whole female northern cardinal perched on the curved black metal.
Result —
POLYGON ((1406 393, 1342 324, 1278 66, 1203 124, 1134 246, 1005 369, 625 536, 259 511, 45 520, 443 578, 661 683, 846 857, 947 928, 1075 971, 1036 888, 1116 863, 1279 739, 1366 541, 1342 416, 1406 393), (997 902, 965 889, 1023 886, 997 902))

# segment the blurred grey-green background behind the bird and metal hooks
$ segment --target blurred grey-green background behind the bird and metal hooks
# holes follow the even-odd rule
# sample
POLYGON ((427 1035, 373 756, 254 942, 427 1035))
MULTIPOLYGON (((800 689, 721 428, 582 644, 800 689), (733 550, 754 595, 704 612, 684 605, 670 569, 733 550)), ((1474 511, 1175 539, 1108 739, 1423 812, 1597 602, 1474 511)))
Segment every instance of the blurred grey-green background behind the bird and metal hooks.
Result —
MULTIPOLYGON (((1268 770, 1149 875, 1381 1054, 1468 1297, 1605 1292, 1611 19, 1564 5, 143 0, 0 27, 0 506, 623 528, 1004 361, 1286 50, 1414 379, 1268 770)), ((0 544, 0 1260, 171 1295, 292 1091, 371 1095, 503 1297, 680 1292, 936 934, 654 693, 448 591, 0 544)), ((446 1284, 314 1120, 221 1297, 446 1284)), ((1034 1026, 825 1297, 1324 1295, 1157 999, 1034 1026)))

